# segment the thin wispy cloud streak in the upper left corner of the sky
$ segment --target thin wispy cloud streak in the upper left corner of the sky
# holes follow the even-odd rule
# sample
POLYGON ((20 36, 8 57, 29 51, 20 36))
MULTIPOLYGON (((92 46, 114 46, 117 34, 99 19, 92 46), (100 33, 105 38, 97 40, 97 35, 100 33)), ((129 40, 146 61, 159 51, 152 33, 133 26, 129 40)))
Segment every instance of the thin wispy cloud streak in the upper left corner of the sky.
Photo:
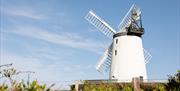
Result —
POLYGON ((5 13, 11 16, 26 17, 36 20, 42 20, 47 18, 41 12, 38 12, 35 9, 27 7, 1 7, 1 13, 5 13))

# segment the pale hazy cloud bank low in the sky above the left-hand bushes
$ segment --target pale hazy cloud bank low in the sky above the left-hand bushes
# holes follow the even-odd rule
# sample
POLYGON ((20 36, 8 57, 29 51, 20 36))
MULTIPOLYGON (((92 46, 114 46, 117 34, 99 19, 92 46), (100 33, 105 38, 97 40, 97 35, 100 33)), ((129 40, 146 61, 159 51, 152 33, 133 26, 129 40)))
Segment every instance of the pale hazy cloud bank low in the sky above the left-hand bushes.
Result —
MULTIPOLYGON (((39 58, 22 57, 3 49, 0 50, 0 61, 1 65, 13 63, 12 67, 17 71, 34 71, 35 74, 31 74, 31 79, 37 79, 39 82, 46 84, 56 83, 55 86, 61 88, 68 88, 68 85, 75 82, 75 80, 100 77, 100 75, 90 72, 94 70, 93 65, 71 64, 71 62, 63 61, 44 65, 39 58), (68 84, 64 82, 68 82, 68 84)), ((26 81, 27 74, 19 74, 15 76, 15 79, 19 81, 24 79, 26 81)), ((3 82, 5 79, 3 78, 1 81, 3 82)))

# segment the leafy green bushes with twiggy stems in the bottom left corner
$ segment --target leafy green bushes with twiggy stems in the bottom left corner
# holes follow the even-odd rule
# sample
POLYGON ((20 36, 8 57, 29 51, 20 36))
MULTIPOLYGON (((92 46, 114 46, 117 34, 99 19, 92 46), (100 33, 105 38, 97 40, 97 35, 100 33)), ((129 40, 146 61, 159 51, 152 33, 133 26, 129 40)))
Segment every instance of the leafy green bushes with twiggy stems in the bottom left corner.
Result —
POLYGON ((46 84, 39 84, 37 81, 32 81, 30 84, 25 83, 24 80, 17 82, 13 79, 13 76, 16 76, 18 72, 14 68, 7 68, 0 71, 1 78, 6 78, 9 80, 10 84, 5 82, 0 84, 0 91, 51 91, 51 87, 47 87, 46 84))

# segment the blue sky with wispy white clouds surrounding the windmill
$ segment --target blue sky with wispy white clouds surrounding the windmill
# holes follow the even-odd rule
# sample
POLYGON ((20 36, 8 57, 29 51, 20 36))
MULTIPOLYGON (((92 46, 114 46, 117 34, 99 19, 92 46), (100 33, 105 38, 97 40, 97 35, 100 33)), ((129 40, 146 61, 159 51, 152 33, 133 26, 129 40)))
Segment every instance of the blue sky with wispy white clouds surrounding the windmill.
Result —
POLYGON ((153 56, 149 79, 166 79, 180 69, 179 0, 0 1, 0 62, 35 71, 34 79, 107 79, 95 65, 111 40, 84 16, 92 9, 117 29, 133 3, 141 8, 143 44, 153 56))

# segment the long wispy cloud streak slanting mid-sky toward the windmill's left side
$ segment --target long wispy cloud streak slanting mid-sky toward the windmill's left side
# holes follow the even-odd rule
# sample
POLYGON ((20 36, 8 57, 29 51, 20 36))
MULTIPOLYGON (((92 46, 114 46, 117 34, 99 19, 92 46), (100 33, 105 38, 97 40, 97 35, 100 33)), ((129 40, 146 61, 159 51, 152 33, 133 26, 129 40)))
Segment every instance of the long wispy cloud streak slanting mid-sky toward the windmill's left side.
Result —
POLYGON ((13 31, 6 32, 46 41, 51 44, 64 45, 67 47, 87 50, 95 53, 100 53, 100 50, 106 47, 102 42, 85 38, 76 33, 61 32, 61 34, 56 34, 35 27, 18 27, 13 31))

